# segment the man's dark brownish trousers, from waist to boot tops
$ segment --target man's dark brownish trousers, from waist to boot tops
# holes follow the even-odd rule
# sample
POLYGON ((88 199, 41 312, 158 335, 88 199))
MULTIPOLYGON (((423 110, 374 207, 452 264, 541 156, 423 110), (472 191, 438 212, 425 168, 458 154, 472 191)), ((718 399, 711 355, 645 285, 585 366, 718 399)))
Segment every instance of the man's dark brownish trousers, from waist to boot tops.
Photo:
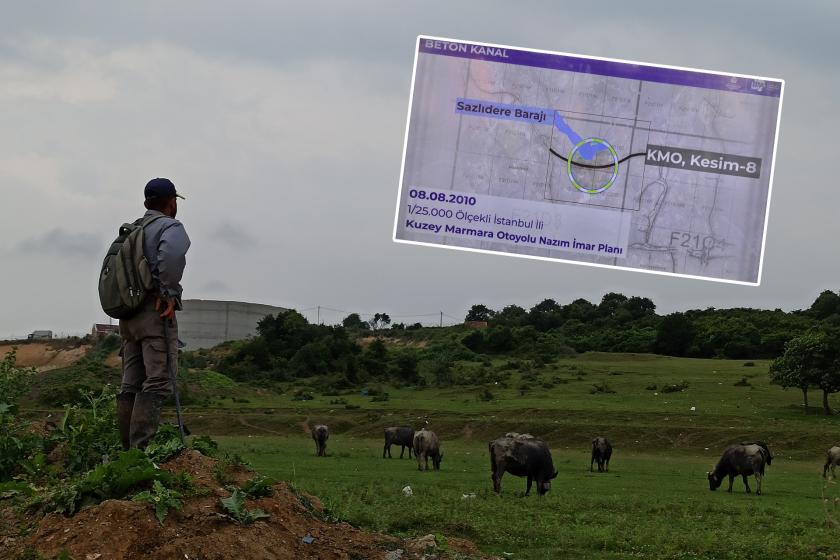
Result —
POLYGON ((120 320, 122 337, 123 393, 172 394, 170 376, 178 370, 178 322, 169 321, 169 364, 166 366, 167 344, 164 338, 160 311, 154 309, 154 299, 144 304, 133 317, 120 320))

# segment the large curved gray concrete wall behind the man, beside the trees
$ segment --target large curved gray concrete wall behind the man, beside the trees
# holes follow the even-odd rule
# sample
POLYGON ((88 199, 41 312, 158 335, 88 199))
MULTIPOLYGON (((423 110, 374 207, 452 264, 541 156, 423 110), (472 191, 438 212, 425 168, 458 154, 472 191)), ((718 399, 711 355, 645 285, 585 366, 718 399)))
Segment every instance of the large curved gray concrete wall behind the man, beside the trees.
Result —
POLYGON ((178 337, 185 350, 211 348, 227 340, 242 340, 257 333, 257 322, 266 315, 286 311, 282 307, 244 303, 186 299, 178 313, 178 337))

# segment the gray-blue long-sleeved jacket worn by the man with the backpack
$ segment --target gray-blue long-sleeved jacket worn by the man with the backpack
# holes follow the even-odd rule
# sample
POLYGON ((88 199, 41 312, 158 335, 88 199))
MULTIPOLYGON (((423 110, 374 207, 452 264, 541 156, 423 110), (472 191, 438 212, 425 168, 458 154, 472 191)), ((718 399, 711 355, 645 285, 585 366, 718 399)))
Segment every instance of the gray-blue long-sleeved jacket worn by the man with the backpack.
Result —
MULTIPOLYGON (((157 210, 146 210, 143 218, 161 215, 157 210)), ((178 300, 181 308, 181 277, 187 266, 187 250, 190 248, 190 238, 184 225, 168 216, 158 218, 143 231, 143 253, 152 276, 160 287, 160 293, 178 300)))

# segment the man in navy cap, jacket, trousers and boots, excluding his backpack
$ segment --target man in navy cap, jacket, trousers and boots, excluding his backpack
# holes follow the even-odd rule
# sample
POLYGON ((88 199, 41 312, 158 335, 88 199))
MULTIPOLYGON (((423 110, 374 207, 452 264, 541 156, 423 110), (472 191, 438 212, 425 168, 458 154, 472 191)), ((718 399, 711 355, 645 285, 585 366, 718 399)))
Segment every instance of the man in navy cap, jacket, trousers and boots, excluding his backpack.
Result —
POLYGON ((169 179, 152 179, 144 190, 143 254, 154 278, 140 310, 120 320, 123 378, 117 395, 117 422, 123 449, 144 449, 160 424, 163 401, 177 374, 181 277, 190 238, 175 219, 178 198, 169 179), (154 219, 153 219, 154 218, 154 219))

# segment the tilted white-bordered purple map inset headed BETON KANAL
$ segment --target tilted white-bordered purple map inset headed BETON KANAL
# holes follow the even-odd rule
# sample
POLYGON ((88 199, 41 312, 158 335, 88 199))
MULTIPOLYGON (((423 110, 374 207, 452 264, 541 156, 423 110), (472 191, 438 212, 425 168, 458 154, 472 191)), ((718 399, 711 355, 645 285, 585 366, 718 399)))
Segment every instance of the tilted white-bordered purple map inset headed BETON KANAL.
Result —
POLYGON ((782 89, 420 37, 394 239, 757 284, 782 89))

